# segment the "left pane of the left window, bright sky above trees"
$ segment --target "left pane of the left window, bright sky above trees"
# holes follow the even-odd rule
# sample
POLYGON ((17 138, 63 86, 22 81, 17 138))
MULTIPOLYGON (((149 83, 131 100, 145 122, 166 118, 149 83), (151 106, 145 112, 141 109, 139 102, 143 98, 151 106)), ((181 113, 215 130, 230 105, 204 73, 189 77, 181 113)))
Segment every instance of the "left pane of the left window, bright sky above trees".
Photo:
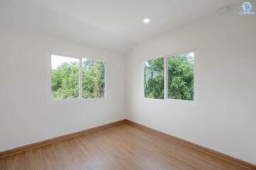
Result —
POLYGON ((51 56, 52 98, 77 98, 79 96, 79 59, 51 56))

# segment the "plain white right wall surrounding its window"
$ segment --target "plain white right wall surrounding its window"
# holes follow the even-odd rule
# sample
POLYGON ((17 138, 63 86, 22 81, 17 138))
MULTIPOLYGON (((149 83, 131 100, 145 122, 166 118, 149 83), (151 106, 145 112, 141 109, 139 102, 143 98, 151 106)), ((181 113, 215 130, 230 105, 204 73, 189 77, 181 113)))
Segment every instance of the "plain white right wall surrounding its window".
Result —
POLYGON ((256 163, 256 15, 238 11, 233 6, 136 46, 126 61, 127 118, 256 163), (145 60, 194 48, 196 101, 143 98, 145 60))

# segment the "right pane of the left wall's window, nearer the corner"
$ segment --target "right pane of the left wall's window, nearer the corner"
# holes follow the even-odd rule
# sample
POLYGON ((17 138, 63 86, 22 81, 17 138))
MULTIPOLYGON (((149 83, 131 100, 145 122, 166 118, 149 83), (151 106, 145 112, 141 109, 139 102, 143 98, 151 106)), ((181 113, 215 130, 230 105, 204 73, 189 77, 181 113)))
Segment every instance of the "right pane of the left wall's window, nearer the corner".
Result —
POLYGON ((102 98, 105 93, 105 62, 82 60, 83 98, 102 98))

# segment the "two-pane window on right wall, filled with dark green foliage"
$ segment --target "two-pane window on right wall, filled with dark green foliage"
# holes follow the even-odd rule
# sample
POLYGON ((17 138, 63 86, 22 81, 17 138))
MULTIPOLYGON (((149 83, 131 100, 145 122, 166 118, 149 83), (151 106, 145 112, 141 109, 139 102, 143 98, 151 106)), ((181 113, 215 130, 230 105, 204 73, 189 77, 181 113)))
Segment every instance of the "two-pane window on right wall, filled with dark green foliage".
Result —
POLYGON ((146 61, 144 64, 144 96, 145 98, 193 101, 194 52, 184 52, 171 57, 146 61))

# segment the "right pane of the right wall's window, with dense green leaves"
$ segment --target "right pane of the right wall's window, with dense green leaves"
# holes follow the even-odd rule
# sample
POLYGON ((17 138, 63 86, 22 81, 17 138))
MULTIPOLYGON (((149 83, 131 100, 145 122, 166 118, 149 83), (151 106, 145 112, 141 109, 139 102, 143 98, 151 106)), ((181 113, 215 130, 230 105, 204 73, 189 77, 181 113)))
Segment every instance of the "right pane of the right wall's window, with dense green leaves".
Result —
POLYGON ((168 98, 194 100, 194 52, 168 57, 168 98))

